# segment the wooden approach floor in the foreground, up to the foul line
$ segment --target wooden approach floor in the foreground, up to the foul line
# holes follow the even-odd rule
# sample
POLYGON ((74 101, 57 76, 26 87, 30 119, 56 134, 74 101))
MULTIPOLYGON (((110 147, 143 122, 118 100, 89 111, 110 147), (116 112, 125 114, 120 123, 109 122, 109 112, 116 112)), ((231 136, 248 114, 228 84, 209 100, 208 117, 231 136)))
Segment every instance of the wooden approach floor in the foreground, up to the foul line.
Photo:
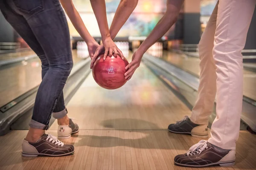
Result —
MULTIPOLYGON (((62 157, 22 157, 27 130, 0 136, 0 170, 255 170, 256 137, 241 131, 233 167, 186 168, 174 165, 201 139, 167 130, 80 130, 70 139, 75 153, 62 157)), ((48 133, 57 135, 56 130, 48 133)))

